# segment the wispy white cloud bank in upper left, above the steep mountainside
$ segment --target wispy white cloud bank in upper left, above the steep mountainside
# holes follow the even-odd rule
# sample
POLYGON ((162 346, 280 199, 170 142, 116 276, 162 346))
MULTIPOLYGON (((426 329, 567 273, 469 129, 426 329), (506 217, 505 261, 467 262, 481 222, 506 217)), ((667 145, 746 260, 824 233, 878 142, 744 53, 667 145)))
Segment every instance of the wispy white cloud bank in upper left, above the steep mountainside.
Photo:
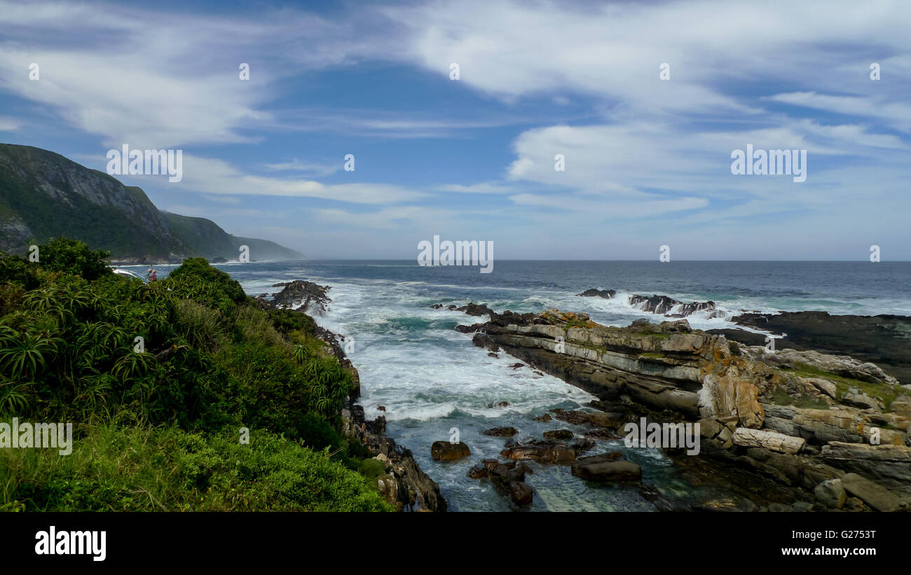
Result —
POLYGON ((292 10, 231 18, 0 2, 0 26, 0 90, 56 110, 106 146, 250 143, 259 136, 245 130, 271 121, 261 105, 277 95, 276 80, 344 66, 367 49, 351 25, 292 10))

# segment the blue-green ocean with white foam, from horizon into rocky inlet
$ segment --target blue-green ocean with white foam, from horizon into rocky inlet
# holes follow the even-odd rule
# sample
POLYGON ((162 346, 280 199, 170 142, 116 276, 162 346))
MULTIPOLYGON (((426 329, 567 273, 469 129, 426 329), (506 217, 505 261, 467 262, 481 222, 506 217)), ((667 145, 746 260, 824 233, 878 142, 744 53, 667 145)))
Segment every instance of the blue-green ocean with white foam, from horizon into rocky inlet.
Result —
MULTIPOLYGON (((516 358, 499 358, 476 348, 459 324, 485 318, 433 309, 435 304, 484 303, 497 312, 538 312, 547 308, 583 311, 605 325, 626 326, 634 319, 661 321, 640 311, 624 295, 660 294, 681 301, 713 300, 731 317, 740 310, 774 312, 825 310, 833 314, 911 315, 911 262, 701 262, 496 261, 478 267, 419 267, 415 260, 338 260, 221 264, 251 296, 274 293, 272 284, 307 279, 332 289, 330 311, 317 322, 353 339, 349 354, 361 374, 366 416, 384 415, 387 435, 414 452, 437 483, 451 510, 508 510, 507 499, 486 479, 469 479, 476 462, 496 458, 504 438, 483 431, 518 429, 515 439, 540 438, 547 429, 583 429, 566 422, 538 422, 548 409, 585 409, 589 393, 529 367, 512 368, 516 358), (613 299, 580 298, 590 287, 615 289, 613 299), (499 402, 508 403, 498 408, 499 402), (378 408, 383 406, 385 411, 378 408), (458 429, 472 454, 437 462, 435 440, 458 429)), ((159 277, 169 268, 159 266, 159 277)), ((144 271, 144 270, 143 270, 144 271)), ((727 318, 696 314, 694 328, 732 327, 727 318)), ((660 449, 627 449, 619 440, 598 440, 589 454, 625 451, 642 466, 643 482, 657 485, 670 499, 718 499, 719 487, 694 484, 660 449)), ((596 486, 571 476, 568 466, 532 464, 527 483, 535 489, 531 511, 653 510, 638 489, 596 486)))

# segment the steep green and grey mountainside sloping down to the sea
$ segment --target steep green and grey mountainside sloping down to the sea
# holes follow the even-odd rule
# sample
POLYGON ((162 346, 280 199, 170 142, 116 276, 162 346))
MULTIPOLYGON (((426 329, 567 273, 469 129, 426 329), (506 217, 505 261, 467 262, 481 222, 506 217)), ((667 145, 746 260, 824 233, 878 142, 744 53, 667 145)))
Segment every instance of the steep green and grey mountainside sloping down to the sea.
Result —
POLYGON ((233 237, 204 217, 160 212, 139 187, 32 146, 0 144, 0 250, 75 237, 115 259, 149 262, 186 257, 301 259, 274 242, 233 237))

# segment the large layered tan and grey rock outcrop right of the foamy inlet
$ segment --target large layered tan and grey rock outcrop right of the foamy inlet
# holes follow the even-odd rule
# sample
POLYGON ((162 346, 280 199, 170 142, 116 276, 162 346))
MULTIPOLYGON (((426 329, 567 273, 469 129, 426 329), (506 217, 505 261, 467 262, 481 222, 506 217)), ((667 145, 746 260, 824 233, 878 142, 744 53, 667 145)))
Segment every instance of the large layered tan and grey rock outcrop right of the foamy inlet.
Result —
MULTIPOLYGON (((607 328, 558 310, 469 308, 483 309, 490 321, 459 331, 596 395, 599 411, 577 417, 597 420, 598 429, 617 431, 641 417, 700 423, 700 455, 666 452, 688 472, 740 494, 719 509, 911 509, 911 386, 875 364, 815 350, 770 352, 694 330, 685 319, 607 328)), ((564 453, 566 461, 585 459, 564 453)), ((595 472, 635 475, 611 469, 618 456, 600 455, 609 460, 597 461, 595 472)), ((496 469, 482 463, 488 473, 496 469)), ((640 491, 659 509, 674 509, 660 489, 640 491)))

